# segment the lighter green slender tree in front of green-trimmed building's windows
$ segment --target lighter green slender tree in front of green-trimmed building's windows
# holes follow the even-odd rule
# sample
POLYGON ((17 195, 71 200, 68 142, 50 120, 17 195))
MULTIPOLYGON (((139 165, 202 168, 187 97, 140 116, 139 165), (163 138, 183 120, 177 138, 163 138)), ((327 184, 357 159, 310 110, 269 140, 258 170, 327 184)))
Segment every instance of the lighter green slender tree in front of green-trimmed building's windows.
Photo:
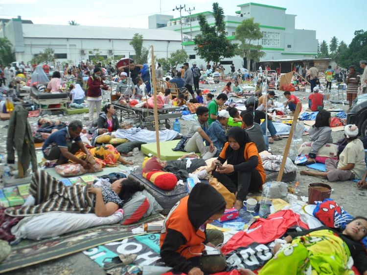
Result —
POLYGON ((260 58, 266 55, 265 52, 261 51, 261 45, 254 43, 262 37, 263 34, 260 31, 260 24, 254 23, 253 18, 242 21, 236 27, 236 40, 241 42, 238 53, 240 56, 246 57, 248 69, 250 69, 250 61, 252 59, 255 62, 259 62, 260 58))

